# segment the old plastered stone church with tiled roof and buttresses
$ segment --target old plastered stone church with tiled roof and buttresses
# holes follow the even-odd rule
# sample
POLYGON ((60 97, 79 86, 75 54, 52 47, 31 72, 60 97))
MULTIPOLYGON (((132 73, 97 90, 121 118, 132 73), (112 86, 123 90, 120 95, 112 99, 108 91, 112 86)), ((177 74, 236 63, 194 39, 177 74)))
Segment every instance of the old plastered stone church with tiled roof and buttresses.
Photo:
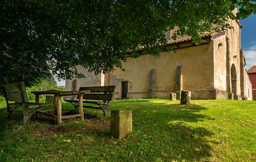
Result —
POLYGON ((191 37, 176 40, 169 37, 168 45, 175 49, 163 51, 159 57, 127 56, 125 72, 116 69, 95 76, 79 68, 86 78, 67 80, 67 90, 80 86, 115 85, 114 99, 169 98, 181 90, 192 92, 192 99, 251 99, 251 83, 245 69, 241 49, 241 24, 232 20, 233 29, 205 34, 204 43, 193 44, 191 37))

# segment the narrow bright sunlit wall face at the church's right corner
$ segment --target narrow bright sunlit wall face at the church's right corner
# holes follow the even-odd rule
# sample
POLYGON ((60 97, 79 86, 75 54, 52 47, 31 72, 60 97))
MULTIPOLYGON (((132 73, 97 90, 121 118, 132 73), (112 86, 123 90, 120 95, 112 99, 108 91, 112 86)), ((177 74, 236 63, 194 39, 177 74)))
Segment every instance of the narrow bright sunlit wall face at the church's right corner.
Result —
POLYGON ((213 40, 214 45, 214 88, 226 91, 226 36, 213 40))

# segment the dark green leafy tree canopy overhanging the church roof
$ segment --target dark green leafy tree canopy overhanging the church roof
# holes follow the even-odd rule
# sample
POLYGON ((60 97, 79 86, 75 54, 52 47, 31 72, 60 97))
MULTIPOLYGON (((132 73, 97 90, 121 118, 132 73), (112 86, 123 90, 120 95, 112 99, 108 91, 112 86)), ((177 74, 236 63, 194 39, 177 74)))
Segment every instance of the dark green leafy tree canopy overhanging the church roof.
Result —
POLYGON ((127 53, 137 57, 138 47, 158 56, 175 27, 199 42, 213 24, 225 30, 229 19, 255 14, 255 6, 246 0, 0 0, 0 85, 50 74, 82 77, 76 65, 107 73, 122 68, 127 53))

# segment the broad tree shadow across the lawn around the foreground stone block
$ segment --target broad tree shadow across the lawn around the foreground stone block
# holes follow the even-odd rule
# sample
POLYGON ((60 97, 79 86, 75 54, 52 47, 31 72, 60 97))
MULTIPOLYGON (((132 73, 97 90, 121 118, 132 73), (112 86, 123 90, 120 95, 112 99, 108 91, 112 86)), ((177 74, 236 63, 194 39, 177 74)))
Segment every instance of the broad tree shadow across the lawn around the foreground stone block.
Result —
MULTIPOLYGON (((116 140, 110 136, 109 117, 101 118, 99 115, 90 114, 90 112, 85 113, 85 122, 77 119, 57 126, 34 121, 31 126, 26 127, 26 130, 18 133, 28 136, 38 134, 38 132, 40 134, 47 132, 47 138, 50 142, 55 142, 55 139, 52 138, 54 134, 76 139, 79 143, 72 145, 72 147, 79 149, 76 150, 80 154, 70 154, 68 153, 69 149, 62 148, 67 152, 63 155, 63 158, 65 157, 67 160, 74 159, 73 156, 81 160, 84 158, 82 156, 86 155, 88 158, 94 158, 88 161, 100 161, 100 159, 97 159, 98 157, 105 161, 118 161, 119 159, 122 159, 122 161, 209 161, 208 158, 211 156, 210 152, 212 150, 210 145, 216 143, 216 141, 211 138, 213 132, 201 123, 205 120, 214 119, 201 113, 207 110, 206 107, 174 103, 176 102, 154 102, 154 100, 114 102, 110 106, 110 110, 133 110, 133 134, 125 140, 116 140), (51 134, 48 132, 51 132, 51 134), (86 149, 81 149, 85 146, 86 149), (86 150, 92 150, 92 152, 85 152, 86 150)), ((22 119, 22 111, 21 114, 19 111, 16 114, 17 116, 14 114, 14 119, 11 120, 5 119, 5 113, 2 111, 0 110, 1 120, 4 121, 0 123, 0 126, 5 131, 9 131, 5 135, 14 136, 15 134, 12 134, 13 131, 8 126, 8 122, 19 120, 18 118, 22 119)), ((101 113, 100 110, 97 110, 97 112, 101 113)), ((19 121, 14 124, 21 125, 19 121)), ((0 131, 0 134, 2 132, 0 131)), ((43 137, 46 138, 46 136, 43 137)), ((42 136, 36 138, 39 137, 42 136)), ((63 140, 61 139, 60 142, 63 142, 63 140)), ((22 144, 19 144, 18 147, 22 147, 22 144)), ((30 147, 31 149, 37 149, 37 146, 30 147)), ((46 148, 40 147, 42 152, 46 151, 47 147, 55 149, 56 146, 45 144, 44 147, 46 148)), ((25 153, 25 155, 28 154, 29 152, 25 153)), ((11 153, 10 156, 15 157, 11 153)), ((56 158, 58 158, 57 155, 56 158)))

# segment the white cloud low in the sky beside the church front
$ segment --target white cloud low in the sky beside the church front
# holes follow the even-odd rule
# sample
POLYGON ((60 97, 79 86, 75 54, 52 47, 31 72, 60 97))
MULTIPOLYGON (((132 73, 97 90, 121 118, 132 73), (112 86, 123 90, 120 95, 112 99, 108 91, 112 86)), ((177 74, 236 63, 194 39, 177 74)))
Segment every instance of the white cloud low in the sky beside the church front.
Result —
POLYGON ((256 65, 256 42, 243 52, 245 53, 246 69, 248 70, 253 65, 256 65))

